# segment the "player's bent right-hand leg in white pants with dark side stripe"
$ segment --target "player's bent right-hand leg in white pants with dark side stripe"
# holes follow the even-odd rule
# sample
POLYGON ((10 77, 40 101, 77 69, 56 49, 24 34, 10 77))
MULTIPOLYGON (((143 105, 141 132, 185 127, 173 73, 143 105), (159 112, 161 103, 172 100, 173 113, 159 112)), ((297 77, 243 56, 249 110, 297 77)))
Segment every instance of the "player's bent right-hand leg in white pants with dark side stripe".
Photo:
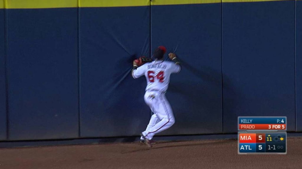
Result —
POLYGON ((165 95, 159 94, 157 97, 158 105, 154 106, 156 107, 155 113, 161 120, 142 133, 149 140, 151 140, 155 134, 170 128, 175 123, 172 108, 165 95))

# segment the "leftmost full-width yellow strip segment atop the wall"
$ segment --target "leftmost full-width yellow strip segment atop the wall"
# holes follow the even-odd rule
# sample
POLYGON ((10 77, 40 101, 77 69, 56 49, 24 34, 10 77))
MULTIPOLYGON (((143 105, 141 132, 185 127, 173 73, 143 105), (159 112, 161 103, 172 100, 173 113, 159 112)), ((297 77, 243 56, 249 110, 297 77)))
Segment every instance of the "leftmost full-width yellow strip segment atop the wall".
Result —
POLYGON ((76 8, 78 0, 5 0, 8 9, 76 8))

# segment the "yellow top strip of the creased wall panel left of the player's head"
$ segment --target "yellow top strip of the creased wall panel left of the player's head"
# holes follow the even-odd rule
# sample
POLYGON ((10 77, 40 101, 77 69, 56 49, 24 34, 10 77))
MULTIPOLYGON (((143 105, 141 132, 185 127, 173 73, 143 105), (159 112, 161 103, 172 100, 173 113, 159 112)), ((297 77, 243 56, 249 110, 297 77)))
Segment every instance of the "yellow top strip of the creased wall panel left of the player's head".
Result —
POLYGON ((80 7, 149 6, 150 0, 79 0, 80 7))

